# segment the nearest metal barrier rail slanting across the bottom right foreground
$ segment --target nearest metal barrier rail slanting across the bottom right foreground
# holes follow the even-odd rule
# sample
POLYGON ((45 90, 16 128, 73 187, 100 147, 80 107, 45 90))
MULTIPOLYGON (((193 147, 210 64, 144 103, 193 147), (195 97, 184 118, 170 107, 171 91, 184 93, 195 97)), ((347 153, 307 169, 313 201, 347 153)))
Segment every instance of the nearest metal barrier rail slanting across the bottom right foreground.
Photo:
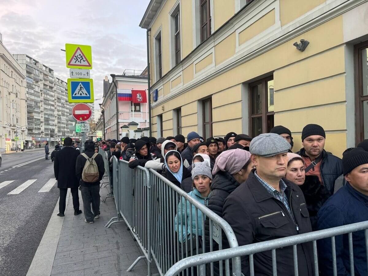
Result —
MULTIPOLYGON (((332 266, 333 275, 337 276, 337 263, 336 263, 336 246, 335 236, 348 234, 349 244, 349 259, 350 259, 350 275, 354 275, 354 255, 353 255, 353 232, 364 230, 365 234, 365 247, 367 250, 366 258, 368 264, 368 221, 348 224, 339 227, 333 227, 330 229, 324 229, 304 234, 299 234, 290 237, 278 238, 270 241, 263 241, 260 243, 243 245, 236 248, 229 248, 220 251, 204 253, 196 256, 190 256, 181 261, 175 263, 169 270, 167 270, 165 276, 174 276, 180 274, 185 269, 190 268, 194 265, 203 265, 204 263, 221 261, 224 259, 249 256, 249 267, 250 275, 255 275, 254 270, 254 254, 263 251, 272 251, 272 269, 273 276, 277 275, 277 260, 276 260, 276 249, 286 246, 293 246, 293 263, 294 263, 294 275, 298 276, 298 261, 297 261, 297 245, 301 243, 312 242, 313 243, 313 258, 314 258, 314 275, 319 275, 318 270, 318 253, 317 253, 317 240, 323 238, 331 238, 332 246, 332 266)), ((362 256, 363 257, 363 256, 362 256)), ((290 260, 291 262, 291 260, 290 260)))

